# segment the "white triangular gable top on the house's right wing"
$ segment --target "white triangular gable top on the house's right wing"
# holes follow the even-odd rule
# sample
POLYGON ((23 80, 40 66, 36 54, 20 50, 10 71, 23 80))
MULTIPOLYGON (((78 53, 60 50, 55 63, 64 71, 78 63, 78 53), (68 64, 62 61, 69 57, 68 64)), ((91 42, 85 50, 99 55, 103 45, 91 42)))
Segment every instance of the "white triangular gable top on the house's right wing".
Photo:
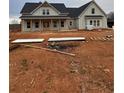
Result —
POLYGON ((106 17, 105 12, 95 2, 92 2, 91 4, 89 4, 89 6, 84 11, 82 11, 79 17, 81 17, 82 15, 88 15, 88 16, 101 15, 106 17), (92 14, 92 9, 95 9, 94 14, 92 14))

